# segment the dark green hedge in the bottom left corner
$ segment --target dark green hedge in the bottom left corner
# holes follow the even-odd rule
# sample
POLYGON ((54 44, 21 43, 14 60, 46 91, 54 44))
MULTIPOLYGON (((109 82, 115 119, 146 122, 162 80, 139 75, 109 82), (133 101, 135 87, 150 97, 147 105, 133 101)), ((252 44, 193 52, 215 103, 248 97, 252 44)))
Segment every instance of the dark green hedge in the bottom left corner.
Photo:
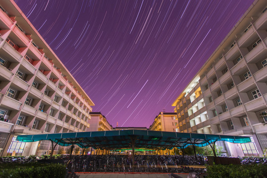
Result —
POLYGON ((0 165, 0 178, 65 178, 66 166, 61 164, 8 163, 0 165))

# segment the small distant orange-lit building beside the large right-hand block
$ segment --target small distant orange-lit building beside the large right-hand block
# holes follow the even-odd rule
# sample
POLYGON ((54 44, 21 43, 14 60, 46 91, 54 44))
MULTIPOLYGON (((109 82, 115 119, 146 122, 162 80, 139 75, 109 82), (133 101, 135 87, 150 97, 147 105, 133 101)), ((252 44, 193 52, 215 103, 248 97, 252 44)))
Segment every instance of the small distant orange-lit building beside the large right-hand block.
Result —
POLYGON ((150 131, 178 132, 176 112, 160 112, 149 127, 150 131))

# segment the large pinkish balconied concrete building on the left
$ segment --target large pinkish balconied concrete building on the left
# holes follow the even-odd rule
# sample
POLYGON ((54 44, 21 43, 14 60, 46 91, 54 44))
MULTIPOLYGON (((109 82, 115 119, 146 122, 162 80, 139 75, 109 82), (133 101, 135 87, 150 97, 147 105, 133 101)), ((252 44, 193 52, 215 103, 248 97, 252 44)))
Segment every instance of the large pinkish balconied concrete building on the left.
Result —
POLYGON ((0 8, 0 155, 44 154, 16 135, 87 131, 94 103, 15 2, 0 8))

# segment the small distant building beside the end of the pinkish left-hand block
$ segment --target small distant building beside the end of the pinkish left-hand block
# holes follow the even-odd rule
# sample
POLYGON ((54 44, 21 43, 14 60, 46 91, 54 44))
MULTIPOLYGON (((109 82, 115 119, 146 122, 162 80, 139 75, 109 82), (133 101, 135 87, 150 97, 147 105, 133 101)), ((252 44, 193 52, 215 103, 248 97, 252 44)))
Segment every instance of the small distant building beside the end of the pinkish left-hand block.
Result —
POLYGON ((90 116, 90 127, 87 131, 111 131, 113 129, 101 112, 90 112, 90 116))

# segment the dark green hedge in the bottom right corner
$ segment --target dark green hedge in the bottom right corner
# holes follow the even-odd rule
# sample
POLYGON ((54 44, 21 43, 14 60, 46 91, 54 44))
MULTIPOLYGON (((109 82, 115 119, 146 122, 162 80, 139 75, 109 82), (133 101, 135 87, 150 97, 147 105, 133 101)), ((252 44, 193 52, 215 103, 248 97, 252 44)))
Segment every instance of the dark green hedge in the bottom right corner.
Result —
POLYGON ((267 165, 213 165, 208 178, 267 178, 267 165))

